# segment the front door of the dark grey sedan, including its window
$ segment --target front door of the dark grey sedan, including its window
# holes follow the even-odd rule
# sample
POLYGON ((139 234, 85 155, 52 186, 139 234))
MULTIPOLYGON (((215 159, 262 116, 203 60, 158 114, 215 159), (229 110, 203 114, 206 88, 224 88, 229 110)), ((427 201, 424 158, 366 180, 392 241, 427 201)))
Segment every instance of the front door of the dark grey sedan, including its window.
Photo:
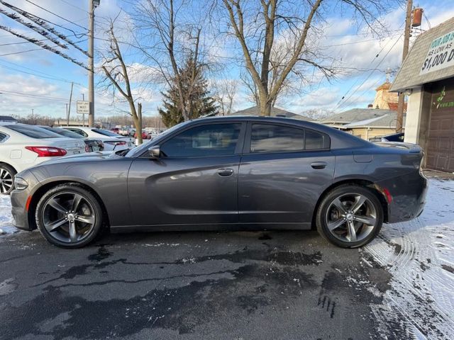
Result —
POLYGON ((136 225, 238 222, 238 169, 245 123, 193 126, 139 157, 128 174, 136 225))

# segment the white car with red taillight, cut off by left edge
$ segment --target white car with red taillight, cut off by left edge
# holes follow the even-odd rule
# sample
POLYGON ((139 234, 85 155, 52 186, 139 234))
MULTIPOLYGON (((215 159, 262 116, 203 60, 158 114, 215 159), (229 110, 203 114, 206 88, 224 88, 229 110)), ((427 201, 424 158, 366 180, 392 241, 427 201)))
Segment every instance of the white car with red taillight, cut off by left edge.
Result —
POLYGON ((14 176, 31 166, 85 152, 84 140, 62 137, 33 125, 0 123, 0 193, 10 193, 14 176))

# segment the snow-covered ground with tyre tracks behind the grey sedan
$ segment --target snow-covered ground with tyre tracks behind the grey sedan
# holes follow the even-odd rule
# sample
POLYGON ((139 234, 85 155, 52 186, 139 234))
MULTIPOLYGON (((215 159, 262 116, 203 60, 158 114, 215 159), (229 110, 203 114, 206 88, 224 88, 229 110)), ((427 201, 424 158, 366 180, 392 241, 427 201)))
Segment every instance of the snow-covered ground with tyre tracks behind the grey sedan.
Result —
POLYGON ((453 202, 454 181, 431 179, 423 214, 384 225, 380 237, 365 246, 393 276, 377 317, 384 324, 404 321, 416 339, 453 339, 453 202))

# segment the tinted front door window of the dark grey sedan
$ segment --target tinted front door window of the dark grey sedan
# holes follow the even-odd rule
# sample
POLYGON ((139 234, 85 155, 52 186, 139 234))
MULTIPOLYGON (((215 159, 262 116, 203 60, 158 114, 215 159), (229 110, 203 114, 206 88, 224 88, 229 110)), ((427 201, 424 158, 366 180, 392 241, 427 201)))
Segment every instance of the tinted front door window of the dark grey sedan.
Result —
POLYGON ((234 154, 241 124, 201 125, 161 146, 165 157, 216 157, 234 154))

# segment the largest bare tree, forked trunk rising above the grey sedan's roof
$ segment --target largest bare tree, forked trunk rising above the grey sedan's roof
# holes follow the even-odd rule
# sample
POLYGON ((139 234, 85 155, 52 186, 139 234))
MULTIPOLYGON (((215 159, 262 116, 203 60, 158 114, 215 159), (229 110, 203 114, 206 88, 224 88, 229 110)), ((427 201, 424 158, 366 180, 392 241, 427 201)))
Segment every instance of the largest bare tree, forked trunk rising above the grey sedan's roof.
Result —
MULTIPOLYGON (((392 1, 392 0, 390 0, 392 1)), ((279 94, 291 91, 299 79, 305 84, 309 70, 317 70, 328 79, 336 69, 326 66, 326 56, 314 48, 318 24, 323 14, 338 6, 349 7, 358 26, 372 23, 388 0, 222 0, 229 33, 239 42, 245 68, 245 85, 257 100, 262 115, 270 115, 279 94), (325 6, 323 6, 325 5, 325 6), (330 8, 331 7, 331 8, 330 8)), ((328 57, 329 60, 329 57, 328 57)), ((312 72, 310 72, 312 73, 312 72)))

